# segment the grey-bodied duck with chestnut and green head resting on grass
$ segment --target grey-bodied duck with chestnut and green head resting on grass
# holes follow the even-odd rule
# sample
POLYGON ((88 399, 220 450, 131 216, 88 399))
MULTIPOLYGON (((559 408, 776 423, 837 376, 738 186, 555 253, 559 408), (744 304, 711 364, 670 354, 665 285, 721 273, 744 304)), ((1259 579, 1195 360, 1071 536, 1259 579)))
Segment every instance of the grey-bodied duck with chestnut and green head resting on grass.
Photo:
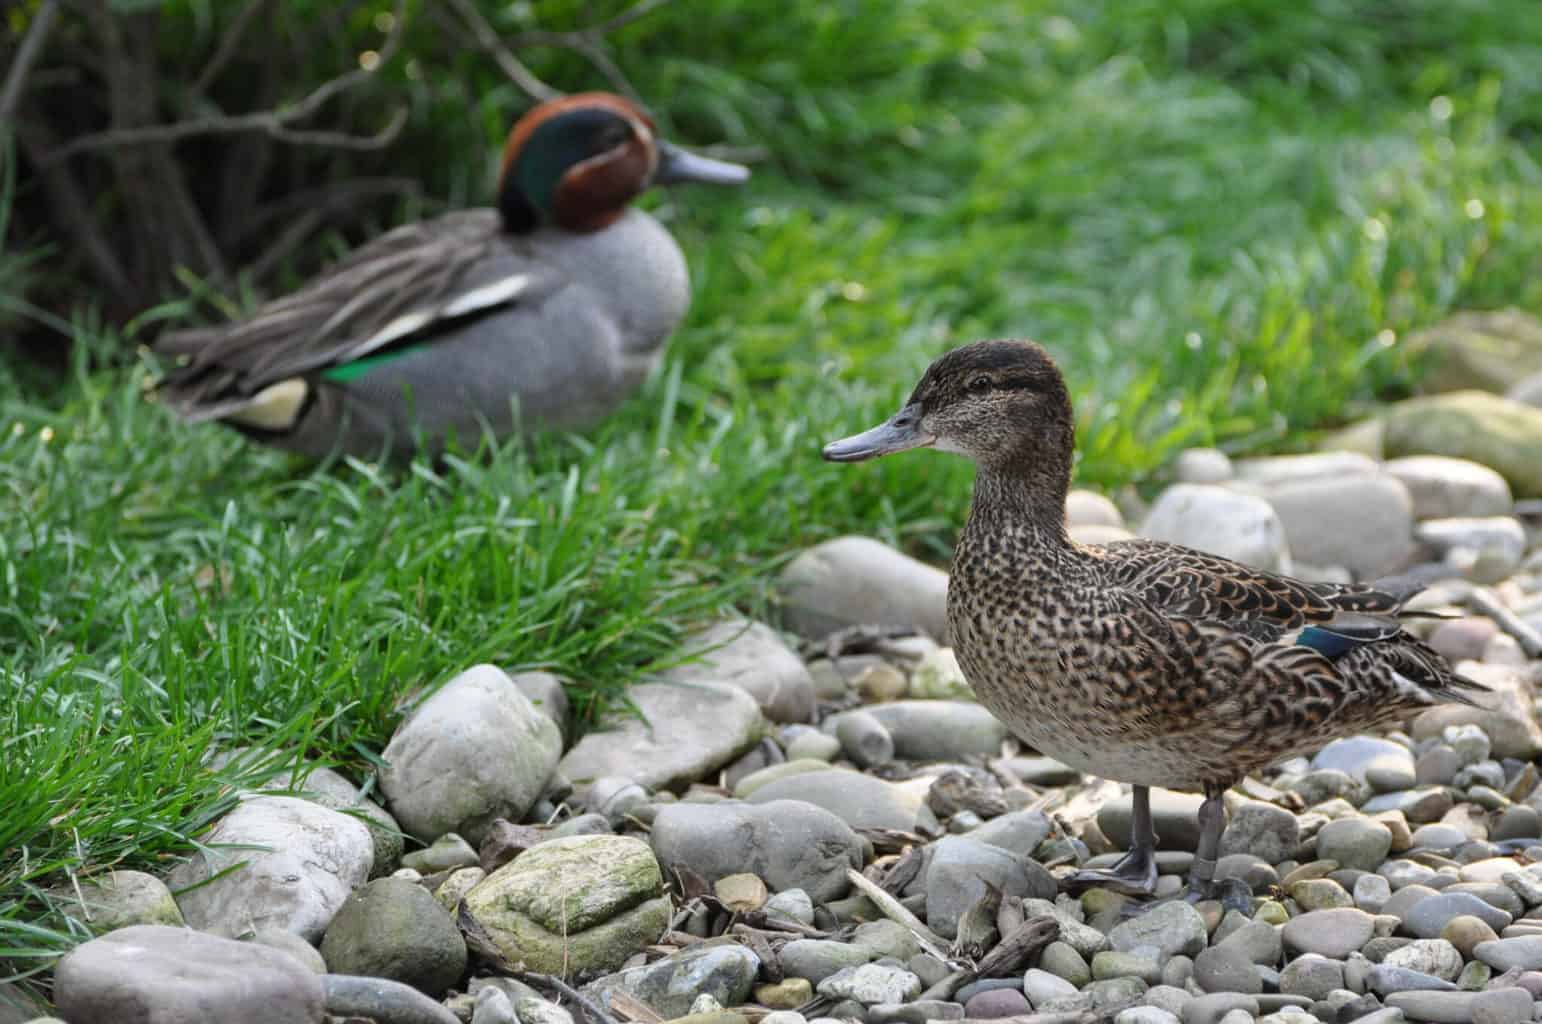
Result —
POLYGON ((167 335, 179 365, 159 395, 315 456, 589 426, 648 376, 689 299, 680 248, 628 204, 748 176, 658 139, 620 96, 541 103, 509 134, 497 208, 398 227, 244 321, 167 335))

